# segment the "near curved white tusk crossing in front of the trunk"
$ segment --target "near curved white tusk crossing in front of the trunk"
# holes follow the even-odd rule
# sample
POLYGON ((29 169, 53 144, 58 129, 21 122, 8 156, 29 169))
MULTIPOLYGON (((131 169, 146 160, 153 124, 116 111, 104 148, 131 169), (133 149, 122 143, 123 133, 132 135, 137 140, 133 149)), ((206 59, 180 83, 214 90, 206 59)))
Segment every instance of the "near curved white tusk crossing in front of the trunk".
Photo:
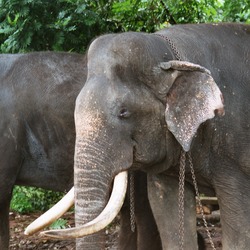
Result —
POLYGON ((75 228, 49 230, 41 232, 41 236, 55 239, 75 239, 97 233, 108 226, 119 213, 127 191, 128 172, 119 173, 114 179, 113 190, 104 210, 94 220, 75 228))

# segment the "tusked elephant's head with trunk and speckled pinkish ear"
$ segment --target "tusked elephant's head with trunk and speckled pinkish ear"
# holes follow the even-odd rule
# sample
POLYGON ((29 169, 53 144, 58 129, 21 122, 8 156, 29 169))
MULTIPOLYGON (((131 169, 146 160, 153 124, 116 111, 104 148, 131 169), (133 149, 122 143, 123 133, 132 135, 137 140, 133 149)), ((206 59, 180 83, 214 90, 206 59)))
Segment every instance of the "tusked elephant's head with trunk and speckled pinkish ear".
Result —
MULTIPOLYGON (((222 96, 210 72, 173 60, 163 39, 142 33, 97 38, 75 107, 76 226, 102 212, 117 174, 178 165, 181 149, 191 148, 199 125, 216 110, 223 111, 222 96)), ((75 229, 46 234, 88 234, 81 228, 80 234, 75 229)), ((103 249, 102 238, 95 234, 77 244, 103 249)))

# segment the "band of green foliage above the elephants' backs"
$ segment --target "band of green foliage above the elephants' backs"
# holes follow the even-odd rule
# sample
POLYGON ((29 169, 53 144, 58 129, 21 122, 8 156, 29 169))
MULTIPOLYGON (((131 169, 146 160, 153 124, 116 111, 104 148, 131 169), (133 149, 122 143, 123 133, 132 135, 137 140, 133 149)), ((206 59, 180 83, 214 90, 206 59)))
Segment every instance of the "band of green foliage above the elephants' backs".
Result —
POLYGON ((85 51, 107 32, 176 23, 250 23, 249 0, 0 0, 0 51, 85 51))

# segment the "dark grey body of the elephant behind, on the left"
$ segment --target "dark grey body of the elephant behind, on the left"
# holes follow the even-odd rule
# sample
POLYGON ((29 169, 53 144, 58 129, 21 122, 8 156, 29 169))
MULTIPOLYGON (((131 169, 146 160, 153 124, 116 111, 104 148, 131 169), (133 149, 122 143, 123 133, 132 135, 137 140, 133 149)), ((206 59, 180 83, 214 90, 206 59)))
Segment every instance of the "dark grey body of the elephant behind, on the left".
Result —
POLYGON ((75 99, 86 59, 73 53, 0 55, 0 248, 8 249, 15 184, 73 185, 75 99))

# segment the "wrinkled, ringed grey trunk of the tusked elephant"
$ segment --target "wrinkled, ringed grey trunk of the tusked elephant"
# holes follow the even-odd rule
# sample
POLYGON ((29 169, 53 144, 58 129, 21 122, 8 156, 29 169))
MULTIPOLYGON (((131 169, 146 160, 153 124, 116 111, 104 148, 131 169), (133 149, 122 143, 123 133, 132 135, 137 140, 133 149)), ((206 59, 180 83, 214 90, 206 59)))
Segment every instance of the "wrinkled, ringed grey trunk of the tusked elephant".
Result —
MULTIPOLYGON (((94 220, 108 200, 112 176, 107 170, 106 143, 95 143, 95 136, 78 139, 75 147, 75 223, 76 227, 94 220)), ((77 240, 77 249, 104 249, 104 232, 77 240)))

